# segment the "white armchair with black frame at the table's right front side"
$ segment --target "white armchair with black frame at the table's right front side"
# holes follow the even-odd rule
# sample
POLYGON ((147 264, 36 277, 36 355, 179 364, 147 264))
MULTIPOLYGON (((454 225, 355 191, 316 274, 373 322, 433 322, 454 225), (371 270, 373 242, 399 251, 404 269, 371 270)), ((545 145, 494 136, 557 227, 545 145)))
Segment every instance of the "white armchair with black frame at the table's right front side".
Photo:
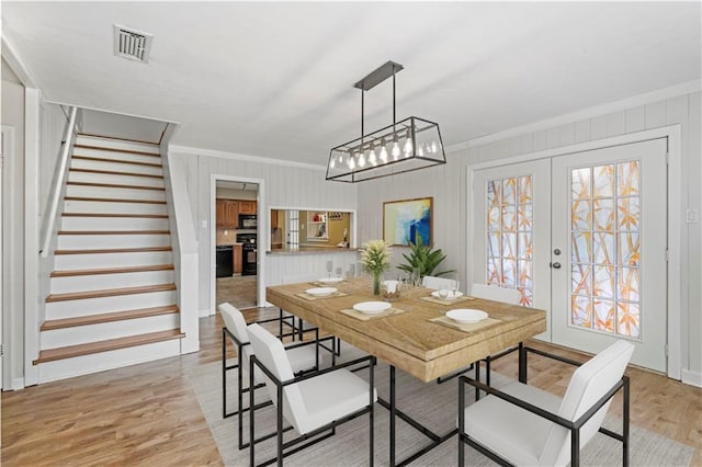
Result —
MULTIPOLYGON (((580 365, 534 349, 561 362, 580 365)), ((624 371, 634 345, 616 341, 580 365, 563 398, 534 386, 511 383, 495 389, 466 376, 458 383, 458 466, 465 444, 492 460, 516 466, 579 465, 580 449, 599 431, 622 443, 622 464, 629 464, 629 378, 624 371), (465 407, 466 384, 489 395, 465 407), (623 388, 622 433, 602 428, 614 395, 623 388)))

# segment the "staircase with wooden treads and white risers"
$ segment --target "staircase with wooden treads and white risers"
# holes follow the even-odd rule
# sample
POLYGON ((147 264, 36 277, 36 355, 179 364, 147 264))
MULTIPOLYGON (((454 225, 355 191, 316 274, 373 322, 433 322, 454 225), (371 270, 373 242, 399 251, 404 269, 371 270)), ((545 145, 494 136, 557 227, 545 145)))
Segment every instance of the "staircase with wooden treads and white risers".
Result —
POLYGON ((77 137, 54 255, 41 381, 180 354, 158 146, 77 137))

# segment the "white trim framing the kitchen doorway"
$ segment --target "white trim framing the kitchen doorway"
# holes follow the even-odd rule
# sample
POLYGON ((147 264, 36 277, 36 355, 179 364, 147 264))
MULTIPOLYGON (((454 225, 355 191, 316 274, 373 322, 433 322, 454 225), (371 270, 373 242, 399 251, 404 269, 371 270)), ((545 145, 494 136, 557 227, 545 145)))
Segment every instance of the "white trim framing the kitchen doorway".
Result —
POLYGON ((256 235, 259 238, 258 242, 258 251, 256 257, 257 262, 257 294, 256 294, 256 303, 257 306, 262 306, 259 304, 265 303, 265 253, 261 249, 260 239, 264 238, 263 234, 268 232, 268 216, 261 216, 261 212, 265 213, 265 196, 264 196, 264 187, 265 181, 263 179, 252 179, 249 176, 238 176, 238 175, 228 175, 223 173, 212 173, 210 174, 210 244, 207 246, 210 251, 210 310, 208 315, 214 315, 216 312, 216 297, 215 297, 215 288, 217 284, 216 277, 216 252, 215 244, 217 243, 217 224, 216 224, 216 213, 217 213, 217 181, 227 181, 227 182, 239 182, 239 183, 257 183, 258 194, 256 197, 256 210, 258 215, 258 224, 256 229, 256 235), (261 254, 263 253, 263 254, 261 254))

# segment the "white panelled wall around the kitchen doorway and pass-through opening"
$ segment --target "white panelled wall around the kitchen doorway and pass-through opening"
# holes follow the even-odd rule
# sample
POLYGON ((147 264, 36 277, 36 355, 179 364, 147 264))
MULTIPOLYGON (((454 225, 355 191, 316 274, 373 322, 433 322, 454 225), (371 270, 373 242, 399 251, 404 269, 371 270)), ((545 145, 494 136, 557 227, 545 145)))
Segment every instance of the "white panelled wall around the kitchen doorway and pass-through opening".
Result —
MULTIPOLYGON (((212 264, 214 246, 211 231, 213 226, 210 224, 212 218, 212 175, 262 180, 264 203, 258 206, 259 213, 269 213, 270 206, 327 210, 353 210, 356 208, 356 187, 347 183, 327 182, 322 167, 281 164, 279 160, 273 162, 229 152, 179 146, 169 148, 169 158, 171 163, 182 163, 183 171, 188 176, 185 189, 191 202, 199 242, 201 315, 214 314, 215 311, 210 304, 213 287, 211 276, 215 266, 212 264), (203 223, 206 227, 203 227, 203 223)), ((262 226, 262 231, 268 231, 268 215, 261 217, 263 219, 260 219, 259 225, 262 226)), ((260 250, 264 248, 268 248, 267 243, 261 240, 260 250)), ((326 271, 326 257, 310 255, 306 258, 304 260, 306 267, 309 267, 310 271, 326 271), (313 263, 310 264, 310 262, 313 263)), ((299 258, 296 255, 260 258, 259 261, 263 261, 265 271, 264 285, 280 283, 280 271, 294 269, 293 264, 298 260, 299 258)))

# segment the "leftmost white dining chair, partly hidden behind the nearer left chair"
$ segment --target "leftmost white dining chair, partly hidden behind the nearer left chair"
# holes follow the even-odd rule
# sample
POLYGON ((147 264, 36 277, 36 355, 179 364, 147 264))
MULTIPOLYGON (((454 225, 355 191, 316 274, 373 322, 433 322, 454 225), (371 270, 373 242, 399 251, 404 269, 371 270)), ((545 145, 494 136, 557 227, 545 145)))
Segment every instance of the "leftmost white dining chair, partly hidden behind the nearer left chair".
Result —
MULTIPOLYGON (((239 418, 239 449, 248 446, 248 443, 244 443, 242 440, 242 414, 248 411, 249 408, 242 408, 244 395, 250 390, 248 386, 249 374, 249 358, 253 353, 251 350, 249 333, 246 320, 241 311, 235 306, 223 303, 218 307, 222 319, 225 327, 222 329, 222 415, 228 418, 231 415, 238 415, 239 418), (237 348, 237 363, 227 365, 227 341, 231 340, 237 348), (236 410, 227 412, 227 372, 236 369, 237 372, 237 406, 236 410)), ((330 340, 330 338, 328 338, 330 340)), ((318 342, 309 341, 305 343, 291 343, 285 346, 288 355, 291 366, 295 374, 302 374, 306 371, 314 371, 319 368, 319 349, 318 342)), ((332 365, 335 357, 332 355, 332 365)), ((263 374, 260 371, 256 372, 254 385, 261 386, 263 384, 263 374)), ((254 410, 260 407, 270 405, 271 401, 259 403, 254 406, 254 410)), ((253 407, 253 406, 250 406, 253 407)))

